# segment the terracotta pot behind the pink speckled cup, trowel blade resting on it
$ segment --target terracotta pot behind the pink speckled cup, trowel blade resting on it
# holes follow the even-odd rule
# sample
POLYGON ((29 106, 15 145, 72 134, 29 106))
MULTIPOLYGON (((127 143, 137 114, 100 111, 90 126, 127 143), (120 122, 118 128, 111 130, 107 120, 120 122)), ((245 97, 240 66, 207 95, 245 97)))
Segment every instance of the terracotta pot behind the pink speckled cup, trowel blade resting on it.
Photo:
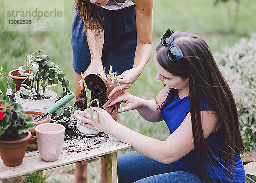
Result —
MULTIPOLYGON (((24 111, 24 113, 28 116, 32 116, 33 119, 36 116, 39 116, 40 114, 44 115, 43 112, 39 112, 39 111, 24 111)), ((49 122, 49 116, 47 115, 41 121, 32 122, 32 124, 35 125, 35 127, 36 127, 37 125, 41 125, 41 124, 48 123, 48 122, 49 122)), ((38 149, 38 143, 37 143, 35 128, 30 129, 29 131, 31 132, 32 137, 31 137, 31 139, 29 139, 29 141, 27 143, 26 150, 27 151, 36 150, 36 149, 38 149)))

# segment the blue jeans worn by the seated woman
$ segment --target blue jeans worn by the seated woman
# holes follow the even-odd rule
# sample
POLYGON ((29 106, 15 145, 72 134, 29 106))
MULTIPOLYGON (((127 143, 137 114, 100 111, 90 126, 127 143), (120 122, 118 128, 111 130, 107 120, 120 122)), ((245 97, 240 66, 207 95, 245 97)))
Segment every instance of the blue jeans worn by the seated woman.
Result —
POLYGON ((166 165, 136 151, 117 158, 117 174, 118 183, 201 183, 195 174, 176 171, 175 163, 166 165))

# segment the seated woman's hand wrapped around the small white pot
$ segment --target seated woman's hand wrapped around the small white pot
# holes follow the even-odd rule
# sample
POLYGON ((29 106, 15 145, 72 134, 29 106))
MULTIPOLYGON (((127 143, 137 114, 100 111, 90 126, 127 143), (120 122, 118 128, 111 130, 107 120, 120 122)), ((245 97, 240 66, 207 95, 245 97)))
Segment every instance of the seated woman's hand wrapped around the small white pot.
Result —
MULTIPOLYGON (((108 113, 107 110, 105 109, 99 109, 98 107, 90 107, 94 110, 97 110, 99 112, 99 123, 98 123, 98 115, 95 111, 93 111, 93 121, 96 125, 96 127, 103 132, 108 133, 108 128, 111 128, 114 124, 116 123, 116 121, 112 118, 112 116, 110 115, 110 113, 108 113)), ((87 128, 91 128, 93 130, 98 131, 98 129, 95 128, 95 126, 93 125, 93 122, 91 120, 91 113, 90 110, 88 110, 87 112, 83 113, 83 111, 81 110, 76 110, 76 112, 79 115, 76 115, 76 119, 78 119, 80 122, 80 124, 84 127, 87 128), (83 115, 81 116, 81 114, 83 113, 83 115)))

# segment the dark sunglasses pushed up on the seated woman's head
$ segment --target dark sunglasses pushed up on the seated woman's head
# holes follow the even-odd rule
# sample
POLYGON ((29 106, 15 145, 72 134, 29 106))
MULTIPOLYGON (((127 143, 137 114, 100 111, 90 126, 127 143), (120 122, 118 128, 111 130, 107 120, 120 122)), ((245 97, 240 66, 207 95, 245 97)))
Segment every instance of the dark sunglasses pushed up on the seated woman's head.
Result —
POLYGON ((163 46, 170 46, 168 50, 168 58, 170 61, 177 61, 180 58, 184 58, 181 49, 178 45, 173 42, 173 31, 168 29, 161 39, 163 46))

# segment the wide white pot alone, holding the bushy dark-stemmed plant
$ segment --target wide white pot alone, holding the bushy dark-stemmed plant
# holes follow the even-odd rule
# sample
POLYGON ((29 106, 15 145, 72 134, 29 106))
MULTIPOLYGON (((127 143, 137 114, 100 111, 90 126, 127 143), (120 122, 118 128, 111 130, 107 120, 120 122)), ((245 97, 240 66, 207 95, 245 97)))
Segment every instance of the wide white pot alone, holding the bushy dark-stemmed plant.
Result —
MULTIPOLYGON (((43 93, 43 89, 40 89, 43 93)), ((31 94, 31 93, 30 93, 31 94)), ((57 93, 52 90, 45 90, 45 95, 51 96, 50 99, 32 100, 20 98, 20 91, 15 93, 15 99, 18 104, 21 104, 24 111, 40 111, 46 113, 46 109, 55 104, 57 93)))

